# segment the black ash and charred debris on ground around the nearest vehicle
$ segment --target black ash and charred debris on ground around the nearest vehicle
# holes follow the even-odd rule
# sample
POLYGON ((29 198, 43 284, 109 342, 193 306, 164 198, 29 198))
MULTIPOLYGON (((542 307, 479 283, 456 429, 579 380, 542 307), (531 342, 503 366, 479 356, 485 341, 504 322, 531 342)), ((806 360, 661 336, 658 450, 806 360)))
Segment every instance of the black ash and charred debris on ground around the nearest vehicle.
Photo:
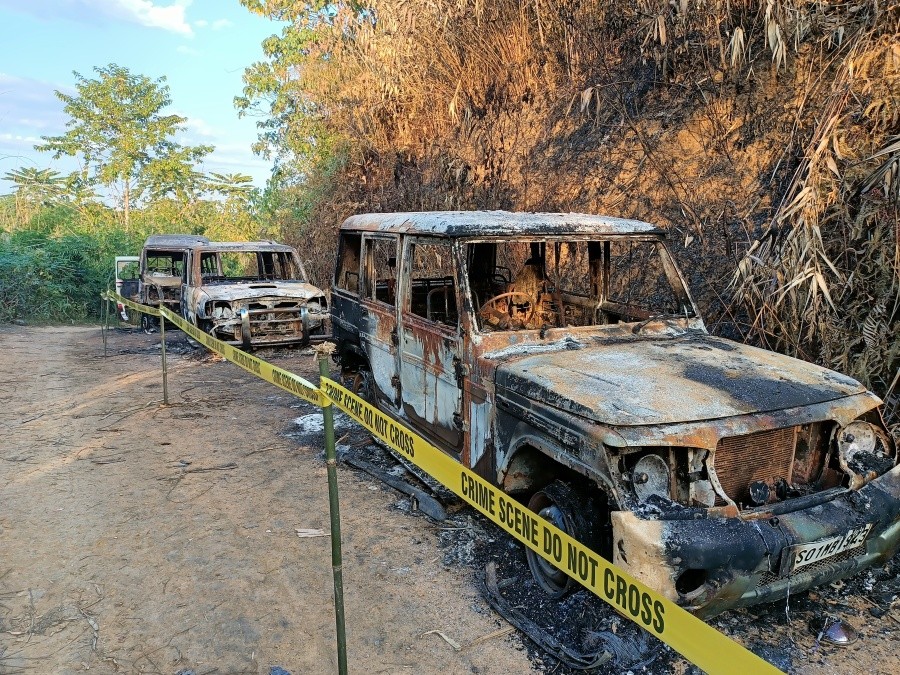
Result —
MULTIPOLYGON (((356 454, 416 487, 428 489, 391 451, 374 443, 371 436, 365 432, 352 432, 349 436, 344 452, 356 454)), ((443 551, 443 564, 469 568, 478 578, 484 574, 489 562, 495 563, 498 587, 510 607, 576 652, 595 654, 605 650, 613 655, 610 661, 589 672, 597 675, 629 672, 633 675, 672 672, 701 675, 699 668, 685 663, 668 645, 587 589, 579 589, 561 600, 549 598, 534 582, 521 544, 450 493, 442 491, 437 496, 449 514, 446 521, 434 523, 443 551)), ((410 509, 406 496, 398 495, 393 508, 424 518, 421 512, 410 509)), ((732 610, 709 623, 780 670, 790 673, 804 664, 835 664, 848 656, 844 648, 816 640, 809 629, 810 622, 816 617, 827 615, 849 621, 861 629, 861 641, 873 632, 900 636, 898 598, 900 560, 895 558, 883 567, 850 579, 791 595, 787 601, 732 610)), ((543 672, 555 675, 585 672, 566 666, 525 636, 522 641, 535 667, 543 672)))

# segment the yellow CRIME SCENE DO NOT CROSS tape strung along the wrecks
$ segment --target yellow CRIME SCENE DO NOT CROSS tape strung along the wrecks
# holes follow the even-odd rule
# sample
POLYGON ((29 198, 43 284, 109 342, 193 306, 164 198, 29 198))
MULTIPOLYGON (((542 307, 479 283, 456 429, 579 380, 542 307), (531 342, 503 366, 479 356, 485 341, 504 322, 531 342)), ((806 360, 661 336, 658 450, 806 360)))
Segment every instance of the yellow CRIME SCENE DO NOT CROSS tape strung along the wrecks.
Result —
MULTIPOLYGON (((153 314, 156 311, 116 293, 110 292, 105 297, 124 301, 123 304, 140 312, 153 314)), ((166 308, 155 315, 164 317, 228 361, 276 387, 320 407, 334 403, 373 436, 416 464, 492 523, 704 671, 713 674, 781 673, 766 660, 600 557, 334 380, 321 378, 322 388, 319 389, 299 375, 217 340, 166 308)))

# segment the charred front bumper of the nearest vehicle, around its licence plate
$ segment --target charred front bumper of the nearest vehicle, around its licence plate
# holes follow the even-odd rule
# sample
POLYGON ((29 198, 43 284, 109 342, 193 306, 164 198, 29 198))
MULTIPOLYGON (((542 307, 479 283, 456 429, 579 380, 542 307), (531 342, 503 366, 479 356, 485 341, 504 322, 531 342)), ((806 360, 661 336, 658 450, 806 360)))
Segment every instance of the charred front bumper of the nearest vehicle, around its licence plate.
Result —
MULTIPOLYGON (((802 499, 802 498, 801 498, 802 499)), ((642 519, 613 514, 614 562, 685 607, 708 618, 727 609, 785 599, 813 586, 883 564, 900 546, 900 466, 859 490, 819 504, 737 518, 642 519), (782 574, 789 549, 867 524, 859 546, 782 574)), ((670 514, 677 518, 677 512, 670 514)), ((786 566, 785 566, 786 567, 786 566)))

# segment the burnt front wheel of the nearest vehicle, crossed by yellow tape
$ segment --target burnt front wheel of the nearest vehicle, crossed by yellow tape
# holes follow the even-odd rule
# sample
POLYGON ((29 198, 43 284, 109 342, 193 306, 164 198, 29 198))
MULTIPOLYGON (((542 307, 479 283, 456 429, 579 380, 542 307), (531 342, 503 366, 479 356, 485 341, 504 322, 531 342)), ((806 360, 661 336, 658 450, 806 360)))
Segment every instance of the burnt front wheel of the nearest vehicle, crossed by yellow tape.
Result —
MULTIPOLYGON (((590 548, 597 549, 594 519, 600 514, 594 501, 584 491, 556 480, 534 493, 528 508, 553 523, 566 534, 590 548)), ((531 576, 551 598, 558 599, 579 587, 577 581, 539 556, 530 548, 525 550, 531 576)))

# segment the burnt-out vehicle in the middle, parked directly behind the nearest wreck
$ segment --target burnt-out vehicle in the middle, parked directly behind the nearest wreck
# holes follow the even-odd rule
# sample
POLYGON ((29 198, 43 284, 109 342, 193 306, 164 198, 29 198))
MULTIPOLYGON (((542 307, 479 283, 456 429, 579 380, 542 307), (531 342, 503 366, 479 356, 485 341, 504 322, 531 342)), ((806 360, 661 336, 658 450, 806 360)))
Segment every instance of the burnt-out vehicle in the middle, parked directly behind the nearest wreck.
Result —
POLYGON ((330 337, 325 294, 306 281, 297 251, 274 241, 191 248, 181 314, 219 340, 245 348, 330 337))

